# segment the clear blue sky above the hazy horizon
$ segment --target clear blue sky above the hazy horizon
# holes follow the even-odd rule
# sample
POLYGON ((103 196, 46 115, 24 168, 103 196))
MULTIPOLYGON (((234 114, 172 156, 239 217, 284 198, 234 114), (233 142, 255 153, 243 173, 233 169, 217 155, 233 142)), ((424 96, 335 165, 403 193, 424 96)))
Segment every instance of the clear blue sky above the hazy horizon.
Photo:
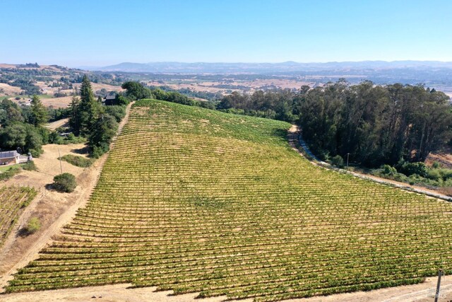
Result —
POLYGON ((452 0, 0 0, 0 63, 452 61, 452 0))

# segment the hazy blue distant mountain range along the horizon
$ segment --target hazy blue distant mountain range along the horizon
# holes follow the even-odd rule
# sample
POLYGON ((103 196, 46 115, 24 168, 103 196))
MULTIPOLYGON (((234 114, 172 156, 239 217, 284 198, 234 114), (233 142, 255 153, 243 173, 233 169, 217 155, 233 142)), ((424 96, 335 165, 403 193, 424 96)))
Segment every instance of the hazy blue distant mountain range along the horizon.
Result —
POLYGON ((111 66, 81 66, 90 71, 123 71, 175 74, 294 74, 319 71, 376 71, 383 69, 452 69, 452 62, 439 61, 362 61, 328 63, 182 63, 182 62, 124 62, 111 66))

